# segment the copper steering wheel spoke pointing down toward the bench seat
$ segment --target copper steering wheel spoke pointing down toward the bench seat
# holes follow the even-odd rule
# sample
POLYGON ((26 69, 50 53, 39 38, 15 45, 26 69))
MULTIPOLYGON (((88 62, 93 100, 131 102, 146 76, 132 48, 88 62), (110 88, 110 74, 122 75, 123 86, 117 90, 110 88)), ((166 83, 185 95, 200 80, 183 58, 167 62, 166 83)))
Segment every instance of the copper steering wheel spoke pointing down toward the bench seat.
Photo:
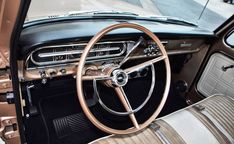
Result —
POLYGON ((139 128, 140 128, 140 127, 139 127, 139 124, 138 124, 138 122, 137 122, 137 119, 136 119, 136 117, 135 117, 135 114, 132 112, 132 111, 133 111, 133 110, 132 110, 132 107, 131 107, 131 105, 130 105, 130 103, 129 103, 129 101, 128 101, 128 98, 127 98, 127 96, 126 96, 126 94, 125 94, 123 88, 122 88, 122 87, 116 87, 116 88, 115 88, 115 91, 116 91, 116 93, 117 93, 117 95, 118 95, 118 97, 119 97, 121 103, 123 104, 125 110, 126 110, 127 112, 131 112, 131 113, 129 114, 129 117, 130 117, 130 119, 131 119, 131 121, 132 121, 134 127, 137 128, 137 129, 139 129, 139 128))

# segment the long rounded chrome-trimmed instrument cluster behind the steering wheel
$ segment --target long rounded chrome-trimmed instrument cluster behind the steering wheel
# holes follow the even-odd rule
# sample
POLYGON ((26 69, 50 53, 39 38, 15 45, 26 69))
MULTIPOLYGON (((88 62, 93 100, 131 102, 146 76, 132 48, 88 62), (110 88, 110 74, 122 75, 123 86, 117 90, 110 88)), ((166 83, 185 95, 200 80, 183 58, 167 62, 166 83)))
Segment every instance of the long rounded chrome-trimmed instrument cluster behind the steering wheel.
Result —
MULTIPOLYGON (((31 53, 30 58, 35 65, 51 65, 67 62, 77 62, 87 43, 45 46, 31 53)), ((123 56, 127 49, 127 42, 100 42, 91 49, 87 60, 123 56)))

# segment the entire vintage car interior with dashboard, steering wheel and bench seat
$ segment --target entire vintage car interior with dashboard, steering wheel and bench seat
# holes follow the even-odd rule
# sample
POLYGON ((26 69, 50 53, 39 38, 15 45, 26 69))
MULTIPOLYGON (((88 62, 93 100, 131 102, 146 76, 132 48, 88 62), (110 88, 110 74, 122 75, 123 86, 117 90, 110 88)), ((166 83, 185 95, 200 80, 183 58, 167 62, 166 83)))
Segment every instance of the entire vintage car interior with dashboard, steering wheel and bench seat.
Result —
POLYGON ((214 32, 118 15, 18 25, 21 143, 234 143, 234 15, 214 32))

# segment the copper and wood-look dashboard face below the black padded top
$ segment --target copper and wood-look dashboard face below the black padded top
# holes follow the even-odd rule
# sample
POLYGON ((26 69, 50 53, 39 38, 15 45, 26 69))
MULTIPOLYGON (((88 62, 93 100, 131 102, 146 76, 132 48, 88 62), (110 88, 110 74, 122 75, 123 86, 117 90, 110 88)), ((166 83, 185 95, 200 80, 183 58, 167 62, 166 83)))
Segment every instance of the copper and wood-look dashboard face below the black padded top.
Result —
MULTIPOLYGON (((153 58, 161 55, 158 46, 151 40, 143 39, 140 45, 131 52, 129 60, 153 58)), ((196 53, 205 44, 204 39, 162 39, 168 55, 196 53)), ((108 40, 94 45, 87 65, 101 66, 107 63, 118 63, 136 45, 137 40, 108 40)), ((77 41, 38 47, 24 60, 18 61, 20 81, 31 81, 65 75, 75 75, 79 58, 87 42, 77 41)), ((43 82, 43 81, 42 81, 43 82)))

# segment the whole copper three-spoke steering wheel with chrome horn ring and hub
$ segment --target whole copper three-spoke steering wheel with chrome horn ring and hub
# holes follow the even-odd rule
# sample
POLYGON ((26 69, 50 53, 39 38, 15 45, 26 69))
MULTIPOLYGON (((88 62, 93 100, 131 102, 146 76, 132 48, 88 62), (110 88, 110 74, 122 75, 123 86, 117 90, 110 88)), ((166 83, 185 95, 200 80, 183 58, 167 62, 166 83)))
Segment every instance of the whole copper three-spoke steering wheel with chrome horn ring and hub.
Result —
MULTIPOLYGON (((127 54, 127 56, 129 56, 129 54, 127 54)), ((154 69, 152 70, 152 72, 154 71, 154 69)), ((152 79, 152 81, 154 81, 154 79, 152 79)), ((79 61, 79 65, 77 68, 77 73, 76 73, 76 86, 77 86, 77 96, 81 105, 81 108, 83 109, 85 115, 87 116, 87 118, 100 130, 110 133, 110 134, 129 134, 129 133, 134 133, 137 131, 140 131, 142 129, 144 129, 145 127, 147 127, 151 122, 153 122, 155 120, 155 118, 158 116, 158 114, 160 113, 160 111, 162 110, 168 93, 169 93, 169 87, 170 87, 170 82, 171 82, 171 69, 170 69, 170 63, 169 63, 169 59, 168 59, 168 55, 167 52, 164 48, 164 46, 162 45, 162 43, 160 42, 160 40, 158 39, 158 37, 156 35, 154 35, 154 33, 152 33, 150 30, 148 30, 147 28, 138 25, 138 24, 133 24, 133 23, 120 23, 120 24, 115 24, 115 25, 111 25, 109 27, 106 27, 105 29, 101 30, 99 33, 97 33, 87 44, 87 46, 85 47, 83 54, 81 55, 80 61, 79 61), (121 69, 121 63, 119 65, 110 65, 107 67, 103 67, 101 69, 96 69, 96 68, 89 68, 89 69, 85 69, 85 62, 86 62, 86 58, 89 55, 90 50, 92 49, 92 47, 108 32, 116 30, 116 29, 120 29, 120 28, 132 28, 132 29, 136 29, 139 30, 143 33, 145 33, 146 35, 148 35, 159 47, 161 55, 159 55, 156 58, 153 58, 151 60, 142 62, 140 64, 131 66, 129 68, 126 69, 121 69), (165 63, 165 68, 166 68, 166 83, 165 83, 165 89, 163 92, 163 97, 161 99, 160 104, 158 105, 158 107, 156 108, 156 110, 154 111, 154 113, 143 123, 139 124, 137 122, 137 119, 134 115, 134 113, 141 109, 143 107, 143 104, 141 106, 139 106, 137 109, 133 110, 128 98, 123 90, 123 86, 127 84, 128 82, 128 74, 137 71, 141 68, 144 67, 148 67, 151 66, 153 68, 153 64, 157 63, 159 61, 164 61, 165 63), (84 97, 84 93, 83 93, 83 81, 86 80, 93 80, 94 82, 94 86, 96 81, 102 81, 103 83, 105 83, 107 86, 112 87, 116 93, 117 96, 119 97, 121 103, 123 104, 126 112, 125 113, 120 113, 122 115, 129 115, 134 127, 132 128, 128 128, 128 129, 113 129, 111 127, 108 127, 106 125, 104 125, 103 123, 101 123, 91 112, 91 110, 89 109, 85 97, 84 97)), ((154 86, 153 82, 151 84, 151 86, 154 86)), ((151 93, 152 94, 152 93, 151 93)), ((148 97, 147 97, 148 98, 148 97)), ((100 99, 99 99, 100 100, 100 99)), ((99 101, 102 102, 102 101, 99 101)), ((146 103, 147 101, 144 101, 144 103, 146 103)), ((102 104, 102 106, 105 108, 105 105, 102 104)), ((106 107, 105 109, 109 109, 108 107, 106 107)), ((110 109, 109 109, 110 110, 110 109)), ((109 111, 110 112, 110 111, 109 111)), ((118 113, 116 111, 112 111, 113 113, 118 113)))

